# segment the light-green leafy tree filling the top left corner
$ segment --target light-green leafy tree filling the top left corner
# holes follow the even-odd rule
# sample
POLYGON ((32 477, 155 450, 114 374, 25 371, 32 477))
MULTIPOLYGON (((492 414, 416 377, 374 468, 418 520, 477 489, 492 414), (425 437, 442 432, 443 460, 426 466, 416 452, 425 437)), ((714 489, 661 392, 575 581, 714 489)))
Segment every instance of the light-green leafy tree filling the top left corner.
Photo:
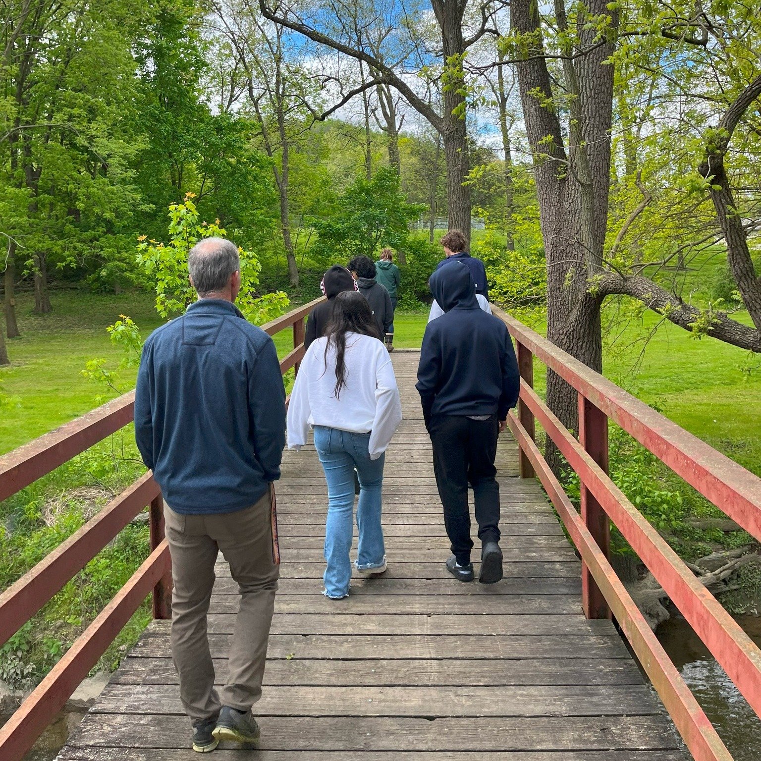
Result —
MULTIPOLYGON (((141 133, 132 40, 148 5, 119 0, 10 2, 0 62, 0 208, 11 257, 51 308, 48 273, 124 251, 139 205, 132 162, 141 133), (97 75, 94 75, 97 72, 97 75)), ((7 282, 7 279, 6 279, 7 282)))

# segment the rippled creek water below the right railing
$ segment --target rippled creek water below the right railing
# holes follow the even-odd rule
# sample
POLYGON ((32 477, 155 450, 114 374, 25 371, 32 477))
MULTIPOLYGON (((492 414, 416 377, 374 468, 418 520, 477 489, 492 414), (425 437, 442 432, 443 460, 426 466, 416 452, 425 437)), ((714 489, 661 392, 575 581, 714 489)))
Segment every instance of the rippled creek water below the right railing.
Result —
MULTIPOLYGON (((761 646, 761 618, 737 616, 737 622, 761 646)), ((689 624, 672 616, 656 633, 735 761, 759 761, 761 720, 689 624)))

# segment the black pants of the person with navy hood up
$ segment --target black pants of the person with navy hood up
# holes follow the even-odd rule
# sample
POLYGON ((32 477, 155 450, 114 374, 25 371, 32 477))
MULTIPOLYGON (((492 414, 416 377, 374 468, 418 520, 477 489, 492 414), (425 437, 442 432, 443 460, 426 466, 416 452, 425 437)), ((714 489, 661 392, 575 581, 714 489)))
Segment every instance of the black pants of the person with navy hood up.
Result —
POLYGON ((478 537, 482 543, 499 541, 499 484, 495 479, 499 422, 437 415, 428 431, 433 444, 433 468, 444 506, 444 526, 452 553, 460 565, 470 562, 468 484, 473 486, 478 537))

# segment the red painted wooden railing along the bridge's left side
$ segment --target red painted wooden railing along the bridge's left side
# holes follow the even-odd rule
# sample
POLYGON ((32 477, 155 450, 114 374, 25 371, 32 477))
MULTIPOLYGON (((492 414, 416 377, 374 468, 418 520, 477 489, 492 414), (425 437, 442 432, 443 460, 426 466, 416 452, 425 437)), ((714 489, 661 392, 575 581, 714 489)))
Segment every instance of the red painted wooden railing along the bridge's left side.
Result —
MULTIPOLYGON (((280 363, 282 373, 290 368, 298 371, 304 358, 304 318, 320 301, 312 301, 263 326, 270 336, 293 328, 294 348, 280 363)), ((20 492, 128 425, 134 406, 132 391, 0 457, 0 500, 20 492)), ((3 645, 146 505, 151 527, 148 559, 0 728, 2 761, 21 761, 148 594, 153 594, 154 618, 170 617, 172 577, 164 539, 164 503, 151 474, 135 481, 0 595, 0 645, 3 645)))

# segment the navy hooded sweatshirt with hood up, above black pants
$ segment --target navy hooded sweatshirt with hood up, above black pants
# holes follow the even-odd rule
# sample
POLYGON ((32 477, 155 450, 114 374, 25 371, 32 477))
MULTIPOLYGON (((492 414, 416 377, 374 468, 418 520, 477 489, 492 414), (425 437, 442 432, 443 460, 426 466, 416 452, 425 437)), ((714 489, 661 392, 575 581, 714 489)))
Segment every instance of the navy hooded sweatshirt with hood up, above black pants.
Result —
POLYGON ((434 415, 505 420, 521 383, 507 326, 479 307, 466 266, 441 267, 430 285, 444 314, 428 323, 420 351, 416 388, 426 427, 434 415))

